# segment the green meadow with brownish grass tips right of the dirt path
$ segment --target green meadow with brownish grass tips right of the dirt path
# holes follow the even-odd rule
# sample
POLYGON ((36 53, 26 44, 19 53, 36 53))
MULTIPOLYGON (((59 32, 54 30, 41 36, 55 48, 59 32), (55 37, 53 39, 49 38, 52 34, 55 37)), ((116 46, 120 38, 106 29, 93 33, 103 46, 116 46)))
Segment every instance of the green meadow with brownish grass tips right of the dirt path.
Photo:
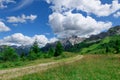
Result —
POLYGON ((72 64, 13 80, 119 80, 120 55, 84 55, 72 64))

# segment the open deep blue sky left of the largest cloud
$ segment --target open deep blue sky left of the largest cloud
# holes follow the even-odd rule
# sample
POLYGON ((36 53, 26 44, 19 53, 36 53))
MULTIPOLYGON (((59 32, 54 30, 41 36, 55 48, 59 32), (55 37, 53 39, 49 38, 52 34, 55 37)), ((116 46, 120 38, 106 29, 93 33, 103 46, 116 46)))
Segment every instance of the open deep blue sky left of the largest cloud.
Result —
MULTIPOLYGON (((13 4, 15 5, 14 7, 20 6, 19 3, 20 1, 18 1, 18 4, 13 4)), ((11 31, 9 32, 0 32, 0 38, 12 35, 14 33, 23 33, 27 36, 34 36, 35 34, 44 34, 48 38, 54 36, 50 26, 48 25, 48 16, 49 14, 51 14, 51 9, 45 1, 36 0, 33 1, 31 4, 25 5, 24 7, 18 10, 14 10, 13 5, 9 4, 8 8, 0 10, 0 18, 4 19, 3 22, 11 28, 11 31), (6 17, 21 16, 22 14, 28 16, 31 14, 37 15, 37 18, 33 22, 28 21, 26 23, 17 23, 17 26, 14 26, 13 23, 6 22, 6 17), (50 33, 50 35, 46 33, 50 33)))

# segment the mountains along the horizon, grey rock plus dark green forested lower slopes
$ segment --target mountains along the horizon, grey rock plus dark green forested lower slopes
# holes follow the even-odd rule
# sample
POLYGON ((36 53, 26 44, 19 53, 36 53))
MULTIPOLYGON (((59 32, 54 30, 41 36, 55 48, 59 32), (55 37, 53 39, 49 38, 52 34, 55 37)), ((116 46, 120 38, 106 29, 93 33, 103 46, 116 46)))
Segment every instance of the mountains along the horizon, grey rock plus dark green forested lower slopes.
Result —
MULTIPOLYGON (((80 51, 82 48, 88 47, 92 44, 97 44, 106 37, 120 35, 120 26, 110 28, 106 32, 102 32, 98 35, 91 35, 89 38, 81 38, 78 36, 71 36, 64 39, 59 39, 66 51, 80 51)), ((55 48, 57 41, 54 43, 47 43, 46 46, 41 48, 42 51, 48 51, 50 47, 55 48)), ((3 49, 3 45, 0 46, 0 51, 3 49)), ((13 47, 17 53, 28 53, 31 46, 16 46, 13 47)))

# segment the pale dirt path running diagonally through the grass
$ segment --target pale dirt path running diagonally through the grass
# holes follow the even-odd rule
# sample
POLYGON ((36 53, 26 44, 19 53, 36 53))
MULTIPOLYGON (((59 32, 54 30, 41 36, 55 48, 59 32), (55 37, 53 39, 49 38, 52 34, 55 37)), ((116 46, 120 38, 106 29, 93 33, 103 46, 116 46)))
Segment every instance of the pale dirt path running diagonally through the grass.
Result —
POLYGON ((66 58, 63 60, 59 60, 56 62, 42 63, 34 66, 22 67, 22 68, 14 68, 8 70, 0 70, 0 80, 9 80, 11 78, 16 78, 19 76, 23 76, 26 74, 36 73, 40 71, 47 70, 49 68, 57 67, 64 64, 70 64, 75 61, 82 59, 82 55, 78 55, 72 58, 66 58))

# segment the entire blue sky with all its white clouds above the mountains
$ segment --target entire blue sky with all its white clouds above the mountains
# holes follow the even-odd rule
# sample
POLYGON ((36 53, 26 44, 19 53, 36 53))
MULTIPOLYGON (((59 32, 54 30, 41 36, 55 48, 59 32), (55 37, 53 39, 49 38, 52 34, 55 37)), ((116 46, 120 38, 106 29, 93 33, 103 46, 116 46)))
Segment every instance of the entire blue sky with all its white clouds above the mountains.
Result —
POLYGON ((120 0, 0 0, 0 45, 42 47, 120 25, 120 0))

